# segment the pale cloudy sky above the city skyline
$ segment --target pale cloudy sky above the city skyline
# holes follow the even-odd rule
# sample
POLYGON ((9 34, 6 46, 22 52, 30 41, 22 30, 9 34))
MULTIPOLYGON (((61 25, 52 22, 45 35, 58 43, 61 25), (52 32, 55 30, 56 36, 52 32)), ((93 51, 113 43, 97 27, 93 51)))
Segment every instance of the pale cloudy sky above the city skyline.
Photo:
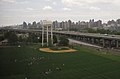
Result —
POLYGON ((23 21, 120 18, 120 0, 0 0, 0 26, 22 24, 23 21))

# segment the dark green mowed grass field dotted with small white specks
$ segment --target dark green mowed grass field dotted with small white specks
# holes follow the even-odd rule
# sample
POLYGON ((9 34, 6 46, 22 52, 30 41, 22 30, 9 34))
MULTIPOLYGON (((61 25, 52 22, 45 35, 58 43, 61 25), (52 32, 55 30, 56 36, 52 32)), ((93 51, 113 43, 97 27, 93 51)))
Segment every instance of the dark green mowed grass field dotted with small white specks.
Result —
POLYGON ((120 79, 120 56, 75 49, 55 54, 30 46, 0 48, 0 79, 120 79))

